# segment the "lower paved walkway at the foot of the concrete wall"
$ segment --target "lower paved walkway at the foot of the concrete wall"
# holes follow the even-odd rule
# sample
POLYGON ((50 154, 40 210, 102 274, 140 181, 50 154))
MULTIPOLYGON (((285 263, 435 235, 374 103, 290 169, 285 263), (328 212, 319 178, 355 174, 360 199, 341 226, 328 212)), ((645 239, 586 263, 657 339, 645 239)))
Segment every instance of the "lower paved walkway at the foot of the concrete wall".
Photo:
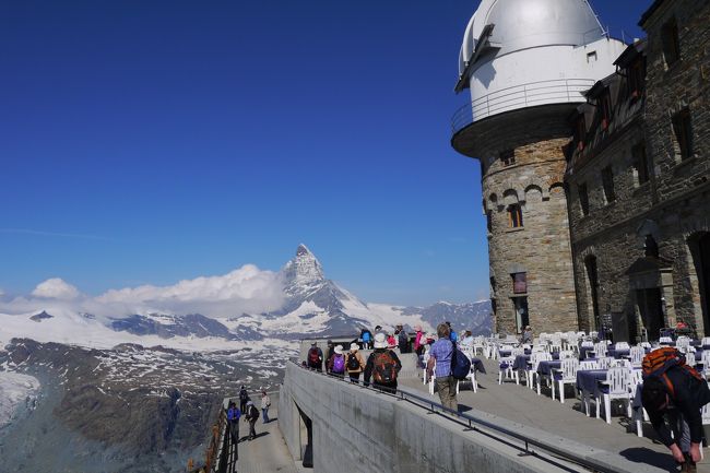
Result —
POLYGON ((279 395, 270 394, 271 407, 269 409, 269 418, 271 422, 264 424, 261 418, 257 422, 257 438, 249 441, 249 424, 241 423, 239 434, 239 460, 237 461, 237 471, 239 473, 301 473, 306 470, 288 452, 288 447, 279 430, 279 395))

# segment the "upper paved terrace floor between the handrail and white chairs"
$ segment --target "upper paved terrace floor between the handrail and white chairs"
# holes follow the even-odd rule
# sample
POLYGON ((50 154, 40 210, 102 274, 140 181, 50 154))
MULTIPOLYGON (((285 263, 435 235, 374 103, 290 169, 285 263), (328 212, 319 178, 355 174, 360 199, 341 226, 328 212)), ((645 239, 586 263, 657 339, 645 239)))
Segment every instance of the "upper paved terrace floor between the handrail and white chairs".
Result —
MULTIPOLYGON (((528 389, 524 381, 516 386, 514 381, 498 385, 498 365, 484 359, 486 375, 478 374, 478 392, 465 390, 459 393, 459 406, 466 410, 480 410, 524 425, 536 427, 560 437, 584 445, 619 453, 628 460, 652 464, 667 471, 677 471, 668 450, 662 444, 649 437, 655 437, 653 428, 644 423, 644 437, 636 435, 636 425, 623 416, 612 417, 612 425, 594 416, 587 417, 580 410, 580 401, 566 399, 553 401, 549 392, 543 388, 542 395, 528 389)), ((428 389, 422 379, 401 380, 400 386, 407 391, 416 390, 428 395, 428 389)), ((571 395, 568 388, 567 395, 571 395)), ((438 402, 438 394, 435 394, 438 402)), ((593 415, 593 414, 592 414, 593 415)), ((706 458, 698 463, 698 472, 710 473, 710 449, 705 449, 706 458)))

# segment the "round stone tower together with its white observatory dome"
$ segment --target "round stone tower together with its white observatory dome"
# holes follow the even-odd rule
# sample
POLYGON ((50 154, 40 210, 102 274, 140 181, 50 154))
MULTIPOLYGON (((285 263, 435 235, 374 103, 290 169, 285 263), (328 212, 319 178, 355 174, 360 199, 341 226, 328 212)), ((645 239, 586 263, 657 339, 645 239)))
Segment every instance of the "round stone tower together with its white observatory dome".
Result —
POLYGON ((565 154, 582 93, 624 43, 585 0, 482 0, 459 57, 452 146, 481 162, 496 330, 578 330, 565 154))

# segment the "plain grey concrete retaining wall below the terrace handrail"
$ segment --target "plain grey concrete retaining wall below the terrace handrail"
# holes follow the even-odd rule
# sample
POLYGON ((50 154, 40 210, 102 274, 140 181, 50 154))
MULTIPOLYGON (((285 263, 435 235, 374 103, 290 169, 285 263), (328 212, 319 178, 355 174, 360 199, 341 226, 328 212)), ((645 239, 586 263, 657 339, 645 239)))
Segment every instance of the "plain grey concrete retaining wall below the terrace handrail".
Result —
MULTIPOLYGON (((521 457, 520 450, 419 405, 289 363, 279 400, 279 427, 296 460, 301 459, 306 440, 300 412, 312 422, 315 472, 582 471, 561 470, 536 457, 521 457)), ((489 422, 524 429, 509 421, 488 417, 489 422)), ((569 449, 581 456, 600 458, 613 471, 641 471, 638 464, 618 456, 532 430, 535 438, 549 437, 558 446, 568 442, 569 449)))

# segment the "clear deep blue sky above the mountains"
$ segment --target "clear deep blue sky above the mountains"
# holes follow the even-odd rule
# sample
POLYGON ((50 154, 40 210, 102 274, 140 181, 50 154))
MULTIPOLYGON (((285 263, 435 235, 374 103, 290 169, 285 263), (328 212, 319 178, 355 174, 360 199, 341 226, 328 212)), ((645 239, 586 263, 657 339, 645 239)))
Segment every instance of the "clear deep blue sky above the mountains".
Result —
MULTIPOLYGON (((369 301, 487 297, 475 161, 449 145, 477 1, 0 3, 0 288, 279 270, 369 301)), ((591 2, 642 36, 650 1, 591 2)))

